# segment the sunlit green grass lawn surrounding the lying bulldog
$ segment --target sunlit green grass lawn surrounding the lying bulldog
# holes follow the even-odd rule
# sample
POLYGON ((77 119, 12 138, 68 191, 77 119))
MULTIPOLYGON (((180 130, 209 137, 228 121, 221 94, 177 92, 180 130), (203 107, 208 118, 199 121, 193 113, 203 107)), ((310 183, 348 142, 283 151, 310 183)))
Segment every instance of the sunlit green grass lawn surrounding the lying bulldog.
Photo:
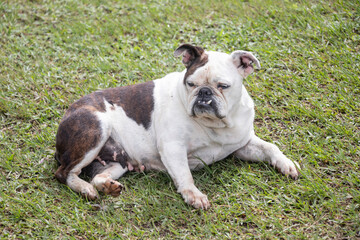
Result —
POLYGON ((358 1, 0 2, 1 239, 360 238, 358 1), (302 167, 293 181, 228 158, 194 172, 212 207, 166 173, 131 173, 89 202, 54 178, 65 109, 97 89, 183 69, 174 49, 248 50, 258 135, 302 167))

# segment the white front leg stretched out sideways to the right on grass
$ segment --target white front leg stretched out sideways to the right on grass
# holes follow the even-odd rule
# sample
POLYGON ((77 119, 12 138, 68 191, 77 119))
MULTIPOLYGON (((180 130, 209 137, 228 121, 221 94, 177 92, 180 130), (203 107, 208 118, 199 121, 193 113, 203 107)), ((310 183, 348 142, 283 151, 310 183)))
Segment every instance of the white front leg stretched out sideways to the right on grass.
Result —
POLYGON ((274 144, 265 142, 255 135, 244 147, 235 152, 235 156, 245 161, 267 161, 286 176, 294 179, 299 176, 296 169, 296 167, 300 169, 298 163, 288 159, 274 144))

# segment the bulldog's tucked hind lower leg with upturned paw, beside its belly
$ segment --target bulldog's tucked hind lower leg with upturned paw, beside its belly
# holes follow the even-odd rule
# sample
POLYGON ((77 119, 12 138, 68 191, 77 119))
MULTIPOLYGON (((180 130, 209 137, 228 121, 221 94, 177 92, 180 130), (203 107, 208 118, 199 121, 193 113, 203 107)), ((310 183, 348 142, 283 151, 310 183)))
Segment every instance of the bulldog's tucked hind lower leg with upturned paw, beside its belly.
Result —
MULTIPOLYGON (((96 164, 99 165, 99 163, 96 164)), ((100 192, 113 197, 119 196, 124 186, 114 179, 118 179, 124 175, 124 173, 128 171, 127 167, 122 167, 118 162, 109 162, 106 166, 102 166, 102 168, 101 170, 99 169, 99 173, 95 175, 91 184, 100 192)))

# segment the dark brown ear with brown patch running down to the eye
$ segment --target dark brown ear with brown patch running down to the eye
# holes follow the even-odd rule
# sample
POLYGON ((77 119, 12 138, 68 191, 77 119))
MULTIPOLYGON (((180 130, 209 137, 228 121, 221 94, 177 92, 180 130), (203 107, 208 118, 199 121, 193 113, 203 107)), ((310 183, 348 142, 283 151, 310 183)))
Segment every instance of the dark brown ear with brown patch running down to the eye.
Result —
POLYGON ((190 44, 183 44, 178 47, 174 56, 183 56, 183 64, 186 66, 186 73, 184 77, 184 83, 188 76, 192 75, 198 68, 203 67, 208 61, 208 55, 201 47, 193 46, 190 44))

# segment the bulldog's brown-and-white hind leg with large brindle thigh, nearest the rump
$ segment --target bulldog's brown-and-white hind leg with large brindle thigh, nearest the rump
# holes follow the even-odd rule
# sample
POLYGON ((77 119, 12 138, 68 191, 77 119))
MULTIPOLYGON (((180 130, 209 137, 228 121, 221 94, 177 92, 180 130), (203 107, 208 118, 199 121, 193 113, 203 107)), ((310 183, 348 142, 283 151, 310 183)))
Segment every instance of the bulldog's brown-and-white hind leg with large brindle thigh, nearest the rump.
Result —
POLYGON ((106 119, 87 108, 73 111, 59 124, 56 135, 56 156, 60 167, 56 178, 75 192, 93 200, 98 197, 95 188, 79 178, 82 169, 98 155, 110 136, 106 119))

